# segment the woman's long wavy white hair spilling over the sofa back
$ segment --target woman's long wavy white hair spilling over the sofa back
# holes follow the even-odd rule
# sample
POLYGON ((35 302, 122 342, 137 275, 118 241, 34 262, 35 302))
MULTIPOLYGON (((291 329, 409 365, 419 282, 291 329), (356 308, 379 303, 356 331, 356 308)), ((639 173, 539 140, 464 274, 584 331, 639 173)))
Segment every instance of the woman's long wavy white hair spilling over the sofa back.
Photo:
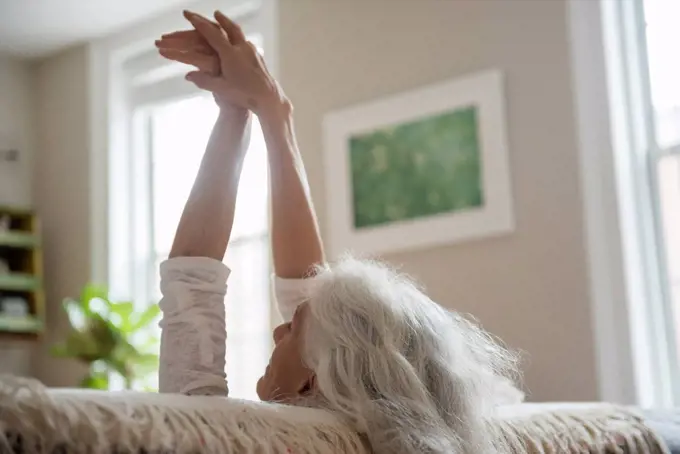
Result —
POLYGON ((315 280, 303 359, 320 405, 376 454, 498 452, 486 417, 522 399, 517 356, 384 265, 348 258, 315 280))

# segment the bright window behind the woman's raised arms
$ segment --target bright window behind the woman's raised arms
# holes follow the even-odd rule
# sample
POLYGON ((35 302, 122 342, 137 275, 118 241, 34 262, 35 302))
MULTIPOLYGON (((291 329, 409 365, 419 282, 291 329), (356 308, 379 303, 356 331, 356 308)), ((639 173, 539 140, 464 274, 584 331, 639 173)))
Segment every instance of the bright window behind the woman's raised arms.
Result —
MULTIPOLYGON (((121 156, 110 164, 118 172, 110 177, 110 210, 122 219, 110 227, 109 267, 117 293, 155 304, 159 265, 170 252, 218 108, 212 95, 183 79, 186 67, 155 52, 129 57, 122 68, 124 106, 115 117, 122 124, 121 146, 114 148, 121 156)), ((227 378, 230 396, 238 398, 257 399, 255 384, 271 348, 267 205, 267 155, 255 118, 225 257, 232 270, 227 378)))

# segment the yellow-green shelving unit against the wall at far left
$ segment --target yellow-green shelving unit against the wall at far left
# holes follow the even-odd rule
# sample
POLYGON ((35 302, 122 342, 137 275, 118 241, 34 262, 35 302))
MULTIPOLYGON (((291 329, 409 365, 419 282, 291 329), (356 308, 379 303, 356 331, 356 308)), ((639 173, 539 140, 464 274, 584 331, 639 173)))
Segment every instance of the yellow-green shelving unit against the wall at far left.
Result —
POLYGON ((37 216, 0 206, 0 336, 39 335, 44 327, 42 248, 37 216), (6 311, 8 299, 26 302, 27 313, 6 311))

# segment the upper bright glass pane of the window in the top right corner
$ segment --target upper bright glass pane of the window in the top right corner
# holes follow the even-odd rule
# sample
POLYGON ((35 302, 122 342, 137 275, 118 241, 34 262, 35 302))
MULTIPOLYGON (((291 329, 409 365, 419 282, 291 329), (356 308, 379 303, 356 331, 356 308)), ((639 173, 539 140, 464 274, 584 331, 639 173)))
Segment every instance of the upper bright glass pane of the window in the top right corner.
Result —
POLYGON ((644 5, 657 140, 665 148, 680 143, 680 2, 644 0, 644 5))

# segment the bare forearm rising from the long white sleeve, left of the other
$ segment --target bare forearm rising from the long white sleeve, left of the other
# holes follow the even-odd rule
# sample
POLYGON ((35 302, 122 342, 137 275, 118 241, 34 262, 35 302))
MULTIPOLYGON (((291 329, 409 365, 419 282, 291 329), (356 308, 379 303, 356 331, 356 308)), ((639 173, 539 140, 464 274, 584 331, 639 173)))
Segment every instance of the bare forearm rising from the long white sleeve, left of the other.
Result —
POLYGON ((220 113, 184 206, 170 257, 224 258, 249 139, 248 113, 220 113))

